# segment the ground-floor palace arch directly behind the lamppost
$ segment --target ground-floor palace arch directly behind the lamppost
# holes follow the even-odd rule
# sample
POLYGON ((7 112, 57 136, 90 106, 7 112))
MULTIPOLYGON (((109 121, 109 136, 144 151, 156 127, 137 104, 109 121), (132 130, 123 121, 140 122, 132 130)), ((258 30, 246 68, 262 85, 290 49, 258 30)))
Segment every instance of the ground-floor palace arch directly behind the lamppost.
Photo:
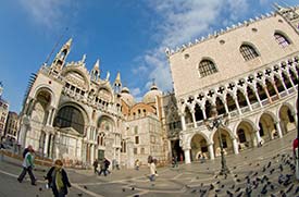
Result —
POLYGON ((229 133, 226 130, 219 128, 213 136, 215 157, 221 156, 219 132, 221 132, 224 155, 233 153, 234 148, 233 148, 233 141, 231 140, 231 137, 229 137, 229 133))

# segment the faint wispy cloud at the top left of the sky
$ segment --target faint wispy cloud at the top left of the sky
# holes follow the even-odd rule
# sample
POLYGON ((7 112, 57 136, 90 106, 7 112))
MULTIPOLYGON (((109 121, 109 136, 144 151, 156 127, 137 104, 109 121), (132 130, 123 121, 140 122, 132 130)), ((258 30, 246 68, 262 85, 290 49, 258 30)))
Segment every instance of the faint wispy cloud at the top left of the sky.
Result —
POLYGON ((71 0, 20 0, 20 2, 36 23, 48 28, 61 28, 67 21, 65 11, 71 4, 76 4, 71 0))

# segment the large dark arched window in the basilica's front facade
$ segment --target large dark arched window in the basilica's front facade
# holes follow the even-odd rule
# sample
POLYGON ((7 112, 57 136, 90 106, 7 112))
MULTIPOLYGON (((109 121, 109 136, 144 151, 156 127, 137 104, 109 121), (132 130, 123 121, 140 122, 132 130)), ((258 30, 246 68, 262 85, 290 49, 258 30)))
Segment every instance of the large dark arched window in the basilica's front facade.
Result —
POLYGON ((84 118, 82 112, 72 106, 61 108, 55 116, 54 126, 61 128, 73 127, 78 133, 84 134, 84 118))

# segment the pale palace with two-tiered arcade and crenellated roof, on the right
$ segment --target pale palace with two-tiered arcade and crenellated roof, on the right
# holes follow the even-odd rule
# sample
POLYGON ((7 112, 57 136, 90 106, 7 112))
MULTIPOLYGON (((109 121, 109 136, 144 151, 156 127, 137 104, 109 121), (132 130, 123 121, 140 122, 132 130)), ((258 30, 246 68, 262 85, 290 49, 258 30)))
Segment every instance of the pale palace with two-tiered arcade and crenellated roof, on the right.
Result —
POLYGON ((299 7, 276 5, 165 52, 180 119, 170 136, 186 163, 219 157, 220 137, 226 155, 238 155, 297 130, 299 7), (220 118, 228 114, 227 126, 207 128, 212 107, 220 118))

